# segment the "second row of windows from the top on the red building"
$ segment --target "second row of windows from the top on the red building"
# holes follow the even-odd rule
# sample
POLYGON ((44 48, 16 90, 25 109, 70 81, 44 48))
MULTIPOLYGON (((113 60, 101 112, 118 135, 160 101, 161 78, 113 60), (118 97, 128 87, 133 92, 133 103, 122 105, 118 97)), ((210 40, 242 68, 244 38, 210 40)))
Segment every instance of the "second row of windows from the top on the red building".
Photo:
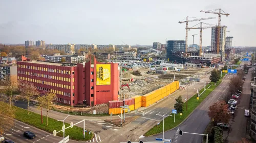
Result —
MULTIPOLYGON (((50 76, 50 75, 44 75, 44 74, 38 74, 38 73, 30 73, 28 71, 20 71, 18 70, 18 74, 23 75, 30 75, 35 77, 41 77, 41 78, 47 78, 47 79, 54 79, 54 80, 60 80, 60 81, 67 81, 70 82, 70 78, 63 78, 63 77, 57 77, 57 76, 50 76)), ((75 79, 72 79, 72 82, 75 82, 75 79)))

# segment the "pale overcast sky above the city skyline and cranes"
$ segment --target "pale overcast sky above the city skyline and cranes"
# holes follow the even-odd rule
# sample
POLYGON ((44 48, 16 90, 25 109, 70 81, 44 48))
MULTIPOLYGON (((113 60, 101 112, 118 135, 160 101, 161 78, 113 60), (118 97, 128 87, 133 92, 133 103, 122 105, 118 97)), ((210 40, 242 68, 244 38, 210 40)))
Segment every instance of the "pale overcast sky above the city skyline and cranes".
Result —
MULTIPOLYGON (((256 46, 255 5, 255 0, 0 0, 0 43, 152 45, 165 43, 165 38, 185 40, 185 23, 178 21, 186 16, 216 17, 203 20, 216 25, 217 14, 200 11, 221 8, 230 14, 221 17, 221 25, 228 27, 227 36, 234 37, 236 46, 256 46)), ((188 44, 193 34, 198 34, 199 44, 199 30, 188 31, 188 44)), ((203 30, 202 45, 210 45, 210 29, 203 30)))

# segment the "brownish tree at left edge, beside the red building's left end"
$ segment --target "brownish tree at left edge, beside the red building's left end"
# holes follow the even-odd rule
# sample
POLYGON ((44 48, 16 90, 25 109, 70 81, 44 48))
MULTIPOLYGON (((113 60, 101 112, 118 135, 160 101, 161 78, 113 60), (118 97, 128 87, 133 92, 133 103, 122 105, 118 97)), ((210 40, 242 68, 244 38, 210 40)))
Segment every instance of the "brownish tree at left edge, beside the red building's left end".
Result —
POLYGON ((4 89, 1 90, 2 93, 8 98, 10 107, 12 106, 12 101, 14 100, 13 93, 17 91, 17 77, 7 76, 6 80, 1 83, 4 89))

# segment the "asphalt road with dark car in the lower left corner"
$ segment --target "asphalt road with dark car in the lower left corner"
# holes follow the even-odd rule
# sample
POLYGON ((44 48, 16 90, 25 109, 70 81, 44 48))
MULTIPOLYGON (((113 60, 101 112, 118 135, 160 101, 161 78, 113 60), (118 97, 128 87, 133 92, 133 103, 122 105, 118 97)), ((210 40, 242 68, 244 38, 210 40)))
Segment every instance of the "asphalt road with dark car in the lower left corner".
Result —
MULTIPOLYGON (((0 135, 1 136, 1 135, 0 135)), ((35 127, 32 127, 30 125, 27 125, 25 123, 16 121, 14 127, 12 127, 10 130, 5 131, 3 135, 6 139, 10 139, 14 142, 20 142, 20 143, 26 143, 26 142, 41 142, 41 143, 47 143, 47 142, 59 142, 62 137, 53 136, 52 134, 39 130, 35 127), (33 139, 28 139, 23 136, 23 133, 25 131, 31 131, 33 132, 36 137, 33 139)), ((3 141, 4 142, 4 141, 3 141)))

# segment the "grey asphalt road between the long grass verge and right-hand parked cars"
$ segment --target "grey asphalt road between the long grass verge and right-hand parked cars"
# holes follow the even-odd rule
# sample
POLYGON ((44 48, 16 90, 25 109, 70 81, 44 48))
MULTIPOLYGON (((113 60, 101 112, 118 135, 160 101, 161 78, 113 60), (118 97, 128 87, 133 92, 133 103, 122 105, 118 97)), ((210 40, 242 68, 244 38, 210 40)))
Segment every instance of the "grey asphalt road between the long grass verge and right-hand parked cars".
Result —
MULTIPOLYGON (((226 75, 221 84, 212 91, 209 96, 198 106, 198 108, 177 128, 166 131, 164 137, 172 139, 172 142, 201 142, 202 136, 193 134, 179 135, 179 130, 183 132, 202 134, 209 124, 208 108, 221 99, 221 93, 228 87, 229 79, 232 75, 226 75)), ((156 137, 162 138, 162 134, 145 137, 145 141, 154 141, 156 137)))

